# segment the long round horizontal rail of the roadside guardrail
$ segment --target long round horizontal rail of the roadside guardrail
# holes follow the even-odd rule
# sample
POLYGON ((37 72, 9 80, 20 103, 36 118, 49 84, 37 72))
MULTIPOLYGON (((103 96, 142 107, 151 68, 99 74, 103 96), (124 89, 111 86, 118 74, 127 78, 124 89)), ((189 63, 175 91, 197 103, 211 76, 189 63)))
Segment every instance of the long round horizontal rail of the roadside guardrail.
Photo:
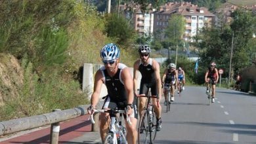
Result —
POLYGON ((65 120, 70 120, 87 113, 88 105, 79 105, 74 109, 66 109, 63 111, 54 111, 43 115, 36 115, 26 118, 17 118, 0 122, 0 135, 12 134, 32 128, 39 128, 49 124, 56 124, 65 120))

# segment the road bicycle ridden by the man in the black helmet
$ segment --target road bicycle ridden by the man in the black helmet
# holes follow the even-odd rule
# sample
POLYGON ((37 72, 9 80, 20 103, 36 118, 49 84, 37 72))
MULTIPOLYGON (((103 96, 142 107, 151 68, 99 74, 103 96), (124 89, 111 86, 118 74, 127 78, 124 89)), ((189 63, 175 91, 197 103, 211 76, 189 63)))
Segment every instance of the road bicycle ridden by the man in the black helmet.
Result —
POLYGON ((140 94, 137 97, 145 97, 148 98, 146 102, 146 107, 142 111, 139 128, 138 128, 138 141, 140 143, 153 143, 156 139, 156 113, 154 112, 154 105, 152 103, 152 98, 158 99, 157 103, 159 103, 158 96, 145 96, 144 94, 140 94))

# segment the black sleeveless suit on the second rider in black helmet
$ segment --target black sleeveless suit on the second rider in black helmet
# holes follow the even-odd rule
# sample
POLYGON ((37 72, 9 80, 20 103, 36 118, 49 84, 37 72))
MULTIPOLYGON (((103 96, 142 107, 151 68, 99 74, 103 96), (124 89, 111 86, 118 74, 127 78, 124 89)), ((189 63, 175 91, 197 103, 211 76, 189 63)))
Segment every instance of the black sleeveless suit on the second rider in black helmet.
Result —
POLYGON ((151 88, 152 96, 158 95, 158 85, 156 82, 155 71, 152 67, 152 58, 150 58, 148 65, 143 65, 140 61, 139 71, 141 73, 140 94, 147 94, 148 89, 151 88))

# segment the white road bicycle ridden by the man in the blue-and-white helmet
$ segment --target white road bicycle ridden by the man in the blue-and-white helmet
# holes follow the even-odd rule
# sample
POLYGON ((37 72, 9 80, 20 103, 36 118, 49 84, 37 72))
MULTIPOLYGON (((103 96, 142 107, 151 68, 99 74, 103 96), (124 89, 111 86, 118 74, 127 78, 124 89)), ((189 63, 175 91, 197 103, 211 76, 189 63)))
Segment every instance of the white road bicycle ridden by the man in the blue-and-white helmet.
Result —
MULTIPOLYGON (((126 110, 121 109, 93 109, 95 113, 110 113, 110 126, 108 134, 106 135, 103 144, 127 144, 126 140, 126 128, 122 125, 122 117, 126 113, 126 110), (119 117, 117 117, 117 113, 119 113, 119 117)), ((131 125, 131 120, 126 115, 127 122, 131 125)), ((93 119, 93 115, 91 115, 90 120, 93 124, 95 124, 95 120, 93 119)))

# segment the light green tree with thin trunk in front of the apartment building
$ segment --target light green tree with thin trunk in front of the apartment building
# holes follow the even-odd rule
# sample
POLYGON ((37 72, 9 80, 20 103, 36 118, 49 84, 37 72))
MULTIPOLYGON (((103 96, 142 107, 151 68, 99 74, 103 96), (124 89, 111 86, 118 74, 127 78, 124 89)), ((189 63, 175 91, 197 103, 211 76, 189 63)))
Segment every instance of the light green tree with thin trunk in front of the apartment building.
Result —
POLYGON ((180 14, 173 14, 168 21, 167 29, 165 30, 165 37, 167 41, 176 47, 175 64, 177 64, 178 45, 182 41, 182 35, 185 30, 185 20, 180 14))

